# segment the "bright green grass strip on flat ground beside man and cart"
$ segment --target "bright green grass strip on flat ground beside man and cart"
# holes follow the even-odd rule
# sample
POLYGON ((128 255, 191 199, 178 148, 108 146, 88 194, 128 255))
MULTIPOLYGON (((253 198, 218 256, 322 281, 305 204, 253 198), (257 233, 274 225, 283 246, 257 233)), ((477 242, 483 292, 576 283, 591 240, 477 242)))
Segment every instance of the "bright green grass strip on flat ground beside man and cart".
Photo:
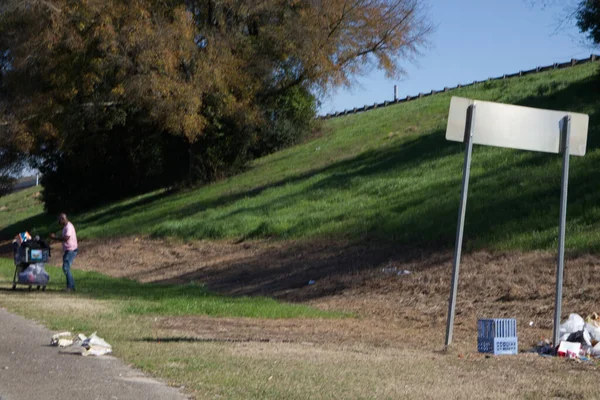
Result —
MULTIPOLYGON (((60 268, 47 266, 51 284, 49 291, 64 287, 60 268)), ((0 277, 12 280, 14 265, 0 259, 0 277)), ((73 270, 78 291, 76 298, 117 301, 123 315, 188 316, 249 318, 335 318, 345 314, 326 312, 304 305, 286 304, 264 297, 225 297, 206 290, 199 284, 159 285, 143 284, 127 279, 73 270)), ((10 287, 10 283, 6 283, 10 287)), ((27 288, 27 286, 18 286, 27 288)))

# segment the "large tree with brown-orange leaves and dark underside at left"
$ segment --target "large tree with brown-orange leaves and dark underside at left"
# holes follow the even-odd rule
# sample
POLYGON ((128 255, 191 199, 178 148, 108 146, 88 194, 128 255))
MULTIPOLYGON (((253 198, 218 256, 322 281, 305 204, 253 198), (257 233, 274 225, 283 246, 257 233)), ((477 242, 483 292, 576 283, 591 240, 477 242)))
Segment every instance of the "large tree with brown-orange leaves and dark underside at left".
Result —
POLYGON ((430 30, 419 0, 4 0, 0 162, 35 160, 48 208, 219 179, 430 30))

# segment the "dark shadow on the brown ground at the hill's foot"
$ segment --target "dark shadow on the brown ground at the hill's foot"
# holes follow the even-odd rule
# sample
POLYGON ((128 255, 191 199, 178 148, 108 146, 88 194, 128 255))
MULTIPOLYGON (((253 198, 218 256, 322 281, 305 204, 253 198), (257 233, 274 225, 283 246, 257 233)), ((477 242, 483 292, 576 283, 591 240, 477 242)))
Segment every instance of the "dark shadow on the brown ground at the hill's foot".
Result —
MULTIPOLYGON (((271 247, 234 262, 163 279, 161 284, 203 282, 228 296, 263 296, 303 302, 341 294, 349 288, 369 290, 373 278, 401 279, 411 273, 446 267, 451 253, 398 246, 390 242, 307 241, 286 248, 271 247)), ((137 279, 141 277, 139 274, 137 279)))

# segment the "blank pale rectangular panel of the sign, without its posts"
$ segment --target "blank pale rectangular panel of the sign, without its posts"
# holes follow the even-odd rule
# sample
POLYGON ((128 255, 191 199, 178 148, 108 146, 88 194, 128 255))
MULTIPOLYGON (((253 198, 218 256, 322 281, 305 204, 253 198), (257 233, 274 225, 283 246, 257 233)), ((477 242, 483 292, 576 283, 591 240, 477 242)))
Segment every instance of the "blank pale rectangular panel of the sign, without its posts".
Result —
POLYGON ((467 109, 475 106, 473 143, 559 153, 563 118, 571 117, 570 153, 585 155, 589 116, 452 97, 446 139, 465 139, 467 109))

